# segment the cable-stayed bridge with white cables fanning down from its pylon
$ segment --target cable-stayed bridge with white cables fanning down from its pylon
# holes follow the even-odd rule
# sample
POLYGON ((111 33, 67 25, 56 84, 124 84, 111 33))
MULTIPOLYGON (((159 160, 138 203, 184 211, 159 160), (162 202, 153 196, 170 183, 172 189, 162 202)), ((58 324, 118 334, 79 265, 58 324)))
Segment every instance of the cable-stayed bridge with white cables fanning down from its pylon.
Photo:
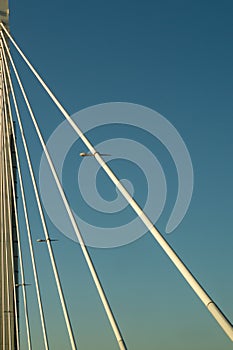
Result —
POLYGON ((85 244, 83 233, 81 232, 78 222, 74 217, 73 211, 70 207, 66 193, 62 186, 62 183, 56 172, 56 168, 53 163, 53 159, 48 150, 46 142, 42 136, 40 125, 37 117, 33 111, 32 104, 29 100, 28 93, 26 92, 22 78, 18 72, 16 63, 11 55, 10 45, 16 49, 19 56, 26 63, 29 70, 36 77, 39 84, 45 90, 50 97, 51 101, 55 104, 58 110, 62 113, 64 118, 68 121, 69 125, 73 128, 74 132, 80 137, 83 145, 88 149, 88 153, 82 153, 82 156, 91 156, 93 160, 97 161, 99 166, 107 174, 109 179, 114 183, 121 195, 132 207, 136 215, 141 219, 143 224, 147 227, 153 239, 161 246, 164 254, 172 261, 176 269, 186 280, 187 284, 193 289, 200 301, 206 306, 208 311, 215 318, 219 326, 225 331, 226 335, 233 341, 233 326, 227 317, 223 314, 217 304, 208 295, 205 289, 201 286, 199 281, 193 276, 191 271, 187 268, 181 258, 176 254, 173 248, 164 239, 158 229, 150 221, 146 213, 140 208, 135 199, 130 195, 127 189, 123 186, 121 181, 114 174, 107 161, 105 155, 98 152, 92 145, 87 136, 85 136, 78 125, 73 121, 69 113, 62 106, 53 92, 46 85, 42 77, 33 67, 32 63, 28 60, 21 48, 18 46, 15 39, 12 37, 9 30, 9 10, 8 2, 1 1, 0 5, 0 48, 1 48, 1 61, 0 61, 0 103, 1 103, 1 116, 0 116, 0 219, 1 219, 1 269, 0 269, 0 347, 4 350, 21 349, 20 344, 20 327, 19 318, 21 314, 19 310, 23 310, 23 319, 25 321, 25 329, 27 335, 27 348, 32 349, 32 331, 31 322, 29 316, 29 303, 28 303, 28 283, 25 275, 24 254, 22 249, 23 234, 26 235, 27 244, 29 246, 30 260, 33 271, 33 285, 36 290, 37 306, 39 309, 40 326, 43 335, 44 349, 49 349, 49 335, 46 326, 46 317, 44 312, 44 300, 41 293, 40 278, 38 273, 38 261, 35 258, 34 238, 32 231, 34 227, 28 214, 28 200, 27 193, 25 191, 25 181, 22 172, 21 159, 18 152, 18 145, 15 133, 15 124, 20 130, 18 136, 22 140, 23 149, 26 157, 26 165, 29 170, 30 180, 32 184, 33 193, 35 196, 36 205, 38 208, 38 218, 43 229, 43 238, 38 239, 38 243, 44 243, 47 248, 47 252, 50 259, 52 278, 56 284, 57 294, 59 296, 59 306, 62 310, 64 324, 68 335, 69 342, 67 348, 77 349, 79 348, 78 337, 75 336, 75 332, 72 326, 72 320, 69 315, 69 307, 67 305, 63 285, 60 278, 58 265, 56 262, 56 254, 54 253, 55 239, 51 236, 48 220, 45 215, 45 211, 38 188, 38 183, 33 170, 30 149, 28 147, 27 136, 25 133, 25 126, 21 115, 21 105, 18 102, 18 91, 16 91, 15 85, 17 84, 20 90, 27 113, 30 116, 34 130, 38 136, 41 147, 44 151, 46 160, 48 162, 52 177, 56 183, 58 192, 62 199, 64 210, 67 212, 72 228, 75 232, 76 238, 79 242, 83 259, 87 265, 90 276, 96 287, 99 295, 99 302, 106 313, 110 327, 115 337, 115 342, 119 349, 127 349, 127 337, 123 336, 120 324, 115 316, 115 312, 110 305, 110 301, 101 283, 99 272, 95 266, 95 262, 91 258, 89 249, 85 244), (14 80, 12 78, 14 76, 14 80), (20 229, 21 217, 18 215, 17 198, 22 200, 22 212, 25 220, 26 232, 22 232, 20 229), (23 305, 20 308, 19 305, 19 293, 22 295, 23 305))

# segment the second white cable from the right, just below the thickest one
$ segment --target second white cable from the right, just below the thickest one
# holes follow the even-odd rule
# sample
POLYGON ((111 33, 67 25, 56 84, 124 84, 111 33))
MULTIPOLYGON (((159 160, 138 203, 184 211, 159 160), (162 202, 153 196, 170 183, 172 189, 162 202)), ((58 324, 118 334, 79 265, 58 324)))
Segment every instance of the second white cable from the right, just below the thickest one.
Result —
MULTIPOLYGON (((2 38, 3 38, 4 44, 5 44, 6 41, 5 41, 5 38, 4 38, 3 35, 2 35, 2 38)), ((11 57, 11 54, 10 54, 10 52, 9 52, 9 49, 8 49, 7 45, 4 45, 4 46, 5 46, 5 49, 6 49, 6 51, 7 51, 8 57, 9 57, 9 59, 10 59, 12 68, 13 68, 14 73, 15 73, 15 76, 16 76, 16 79, 17 79, 18 84, 19 84, 19 86, 20 86, 20 90, 21 90, 22 95, 23 95, 23 97, 24 97, 24 100, 25 100, 25 102, 26 102, 27 108, 28 108, 28 110, 29 110, 31 119, 32 119, 32 121, 33 121, 34 127, 35 127, 36 132, 37 132, 37 135, 38 135, 39 140, 40 140, 40 142, 41 142, 42 148, 43 148, 43 150, 44 150, 44 152, 45 152, 47 161, 48 161, 48 163, 49 163, 49 166, 50 166, 51 172, 52 172, 52 174, 53 174, 53 177, 54 177, 54 179, 55 179, 56 185, 57 185, 57 187, 58 187, 59 193, 60 193, 60 195, 61 195, 61 197, 62 197, 62 200, 63 200, 63 203, 64 203, 64 205, 65 205, 66 211, 67 211, 67 213, 68 213, 68 215, 69 215, 70 221, 71 221, 71 223, 72 223, 72 226, 73 226, 74 231, 75 231, 75 233, 76 233, 76 236, 77 236, 77 238, 78 238, 80 247, 81 247, 81 249, 82 249, 83 255, 84 255, 84 257, 85 257, 85 260, 86 260, 87 265, 88 265, 88 267, 89 267, 89 270, 90 270, 90 272, 91 272, 91 275, 92 275, 93 281, 94 281, 94 283, 95 283, 95 285, 96 285, 96 288, 97 288, 97 291, 98 291, 98 293, 99 293, 100 299, 101 299, 101 301, 102 301, 102 303, 103 303, 103 306, 104 306, 104 309, 105 309, 106 314, 107 314, 107 316, 108 316, 108 319, 109 319, 109 322, 110 322, 110 324, 111 324, 112 330, 113 330, 113 332, 114 332, 114 334, 115 334, 115 337, 116 337, 116 339, 117 339, 118 346, 119 346, 119 348, 120 348, 121 350, 125 350, 125 349, 126 349, 126 345, 125 345, 124 340, 123 340, 123 337, 122 337, 122 335, 121 335, 119 326, 118 326, 118 324, 117 324, 117 322, 116 322, 116 320, 115 320, 115 317, 114 317, 113 312, 112 312, 112 310, 111 310, 110 304, 109 304, 109 302, 108 302, 108 300, 107 300, 107 297, 106 297, 106 295, 105 295, 104 289, 103 289, 103 287, 102 287, 102 285, 101 285, 101 282, 100 282, 100 280, 99 280, 98 274, 97 274, 97 272, 96 272, 96 270, 95 270, 94 264, 93 264, 93 262, 92 262, 92 260, 91 260, 91 257, 90 257, 90 255, 89 255, 89 252, 88 252, 88 250, 87 250, 87 247, 85 246, 83 237, 82 237, 82 235, 81 235, 81 232, 79 231, 79 228, 78 228, 78 226, 77 226, 77 223, 76 223, 75 218, 74 218, 74 215, 73 215, 73 212, 72 212, 72 210, 71 210, 71 208, 70 208, 70 206, 69 206, 68 200, 67 200, 66 195, 65 195, 65 193, 64 193, 64 190, 63 190, 63 188, 62 188, 62 185, 61 185, 61 183, 60 183, 60 180, 59 180, 59 178, 58 178, 58 176, 57 176, 55 167, 54 167, 54 165, 53 165, 53 162, 52 162, 52 159, 51 159, 51 157, 50 157, 50 154, 49 154, 49 152, 48 152, 48 150, 47 150, 46 144, 45 144, 45 142, 44 142, 44 140, 43 140, 43 137, 42 137, 42 135, 41 135, 40 129, 39 129, 39 127, 38 127, 38 124, 37 124, 37 122, 36 122, 35 116, 34 116, 33 111, 32 111, 32 109, 31 109, 30 103, 29 103, 28 98, 27 98, 27 96, 26 96, 26 93, 25 93, 25 91, 24 91, 24 88, 23 88, 22 82, 21 82, 21 80, 20 80, 20 77, 19 77, 19 75, 18 75, 17 69, 16 69, 15 64, 14 64, 14 62, 13 62, 13 60, 12 60, 12 57, 11 57)))

